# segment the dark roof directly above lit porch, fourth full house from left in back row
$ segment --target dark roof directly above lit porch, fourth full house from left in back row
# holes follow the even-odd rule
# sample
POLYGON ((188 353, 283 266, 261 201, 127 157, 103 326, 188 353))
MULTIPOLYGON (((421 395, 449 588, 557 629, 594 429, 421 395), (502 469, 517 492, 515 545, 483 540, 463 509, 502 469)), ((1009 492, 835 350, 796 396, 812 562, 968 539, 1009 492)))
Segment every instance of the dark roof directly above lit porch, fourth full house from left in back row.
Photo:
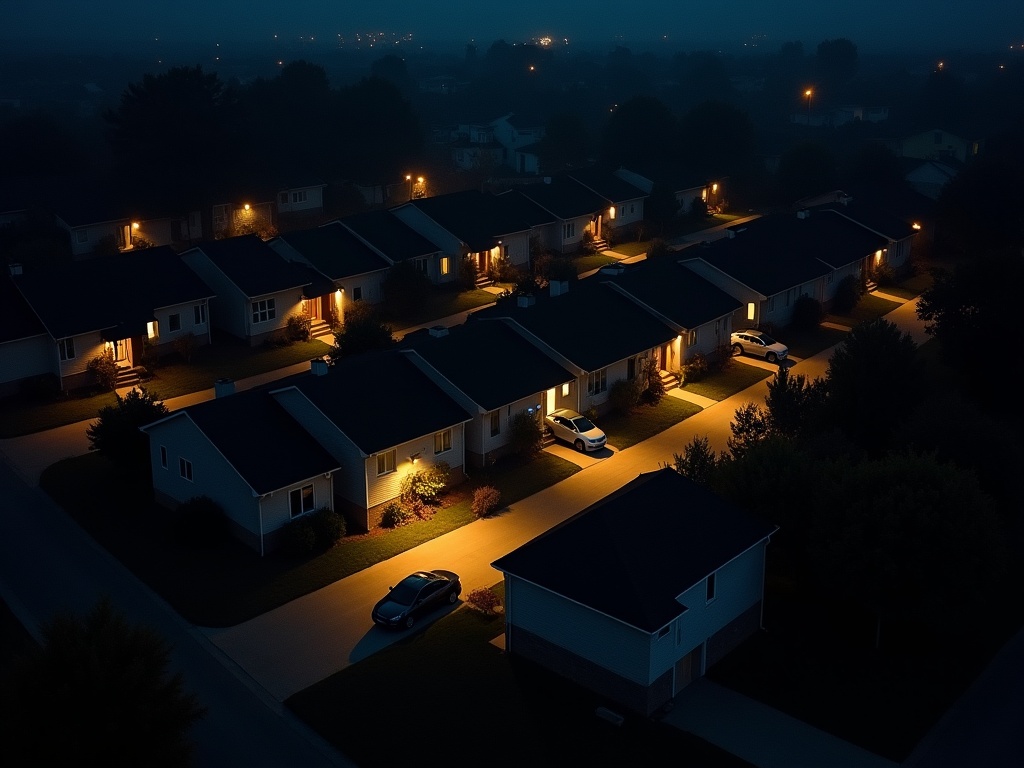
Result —
POLYGON ((408 205, 436 221, 471 251, 489 250, 502 237, 530 229, 528 218, 519 208, 478 189, 420 198, 408 205))

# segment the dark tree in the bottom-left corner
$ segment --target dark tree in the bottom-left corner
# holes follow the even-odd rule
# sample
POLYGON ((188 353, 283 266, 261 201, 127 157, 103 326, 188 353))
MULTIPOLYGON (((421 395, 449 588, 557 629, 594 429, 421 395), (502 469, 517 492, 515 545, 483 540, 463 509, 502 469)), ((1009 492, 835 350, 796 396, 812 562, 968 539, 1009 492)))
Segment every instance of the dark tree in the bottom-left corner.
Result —
POLYGON ((101 600, 84 616, 42 627, 42 647, 18 659, 3 686, 3 741, 38 765, 191 763, 188 731, 204 715, 153 630, 101 600))

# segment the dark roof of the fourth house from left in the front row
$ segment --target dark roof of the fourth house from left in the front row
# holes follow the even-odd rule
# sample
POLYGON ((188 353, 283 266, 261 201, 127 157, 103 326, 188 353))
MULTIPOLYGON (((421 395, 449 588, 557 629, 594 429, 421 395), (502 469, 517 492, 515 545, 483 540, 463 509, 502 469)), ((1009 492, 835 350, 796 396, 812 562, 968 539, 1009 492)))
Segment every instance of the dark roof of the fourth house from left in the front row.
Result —
POLYGON ((589 278, 569 283, 560 296, 541 292, 532 306, 516 297, 469 315, 509 317, 584 371, 599 371, 618 360, 668 343, 676 332, 614 288, 589 278))

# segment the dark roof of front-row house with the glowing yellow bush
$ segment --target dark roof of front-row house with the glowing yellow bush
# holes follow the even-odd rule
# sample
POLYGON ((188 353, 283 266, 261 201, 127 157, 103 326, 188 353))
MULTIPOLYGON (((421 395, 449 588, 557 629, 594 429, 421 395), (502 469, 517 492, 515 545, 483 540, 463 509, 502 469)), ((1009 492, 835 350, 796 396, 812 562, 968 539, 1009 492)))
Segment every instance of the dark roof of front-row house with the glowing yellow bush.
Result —
POLYGON ((326 375, 297 377, 293 386, 366 456, 470 419, 395 349, 344 357, 326 375))

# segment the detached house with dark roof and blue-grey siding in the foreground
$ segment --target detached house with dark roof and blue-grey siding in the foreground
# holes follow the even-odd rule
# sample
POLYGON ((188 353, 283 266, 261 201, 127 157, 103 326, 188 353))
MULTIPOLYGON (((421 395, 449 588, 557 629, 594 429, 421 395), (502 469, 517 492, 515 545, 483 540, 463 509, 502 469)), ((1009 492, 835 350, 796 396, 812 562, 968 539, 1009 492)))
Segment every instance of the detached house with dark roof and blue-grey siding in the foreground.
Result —
POLYGON ((649 716, 762 626, 777 528, 666 468, 492 565, 505 649, 649 716))

